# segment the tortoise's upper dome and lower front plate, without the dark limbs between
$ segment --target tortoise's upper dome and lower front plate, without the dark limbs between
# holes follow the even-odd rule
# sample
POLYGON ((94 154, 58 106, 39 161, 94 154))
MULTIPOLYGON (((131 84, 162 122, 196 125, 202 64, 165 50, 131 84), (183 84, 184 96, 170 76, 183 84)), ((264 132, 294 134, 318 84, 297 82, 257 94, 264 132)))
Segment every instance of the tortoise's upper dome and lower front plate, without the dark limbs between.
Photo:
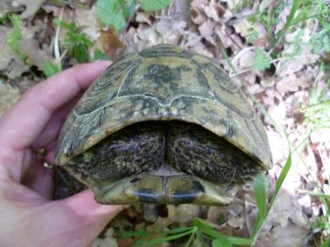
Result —
MULTIPOLYGON (((181 171, 168 173, 164 170, 150 173, 148 169, 135 167, 126 176, 113 179, 102 178, 104 172, 96 177, 91 174, 100 168, 89 169, 89 172, 81 169, 80 163, 105 152, 95 154, 98 151, 93 147, 98 143, 126 131, 130 126, 135 126, 131 130, 132 138, 133 132, 145 132, 148 135, 149 127, 144 128, 145 124, 142 123, 153 129, 153 124, 158 122, 171 122, 173 132, 176 132, 176 126, 186 123, 186 126, 190 126, 189 130, 181 132, 190 132, 192 135, 201 133, 201 139, 210 135, 206 142, 213 137, 224 140, 225 146, 236 148, 230 149, 229 159, 236 152, 243 152, 253 161, 258 172, 272 167, 270 146, 263 124, 243 91, 232 83, 216 62, 173 45, 157 45, 124 56, 91 84, 61 130, 56 148, 56 165, 65 167, 78 180, 91 187, 96 200, 105 204, 229 204, 232 199, 228 191, 234 185, 221 183, 222 172, 217 169, 214 171, 220 175, 214 179, 208 179, 211 175, 201 178, 195 170, 187 172, 189 168, 181 174, 181 171)), ((153 131, 162 128, 156 127, 153 131)), ((177 128, 181 130, 186 127, 177 128)), ((120 143, 121 138, 124 137, 119 135, 116 143, 120 143)), ((154 158, 160 156, 155 154, 154 158)), ((175 158, 176 154, 172 156, 175 158)), ((116 171, 124 167, 123 163, 116 164, 116 171)), ((212 169, 209 174, 212 174, 212 169)))

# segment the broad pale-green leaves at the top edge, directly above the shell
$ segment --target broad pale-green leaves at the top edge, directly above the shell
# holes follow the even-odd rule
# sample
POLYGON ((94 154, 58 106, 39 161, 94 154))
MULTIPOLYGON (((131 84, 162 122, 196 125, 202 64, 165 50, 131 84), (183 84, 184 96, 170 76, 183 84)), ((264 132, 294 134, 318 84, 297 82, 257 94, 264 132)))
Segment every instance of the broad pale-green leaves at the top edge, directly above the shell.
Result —
MULTIPOLYGON (((145 11, 162 10, 172 0, 140 0, 140 6, 145 11)), ((98 20, 107 27, 112 27, 115 32, 122 32, 126 21, 133 16, 137 4, 134 0, 98 0, 96 3, 98 20)))

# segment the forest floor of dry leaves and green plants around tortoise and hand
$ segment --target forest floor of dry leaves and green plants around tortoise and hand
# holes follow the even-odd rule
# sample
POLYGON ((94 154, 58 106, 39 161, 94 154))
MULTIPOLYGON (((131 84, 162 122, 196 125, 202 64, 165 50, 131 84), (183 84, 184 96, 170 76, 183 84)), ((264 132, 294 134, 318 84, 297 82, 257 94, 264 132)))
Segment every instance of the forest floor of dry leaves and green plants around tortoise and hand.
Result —
MULTIPOLYGON (((267 213, 259 215, 261 195, 250 183, 230 207, 159 205, 149 209, 157 211, 153 219, 146 207, 129 207, 93 246, 243 244, 225 236, 253 246, 320 246, 330 235, 329 16, 325 0, 4 0, 0 116, 28 88, 78 63, 115 61, 162 43, 195 51, 255 99, 274 161, 263 183, 267 213)), ((56 198, 69 195, 62 184, 56 198)))

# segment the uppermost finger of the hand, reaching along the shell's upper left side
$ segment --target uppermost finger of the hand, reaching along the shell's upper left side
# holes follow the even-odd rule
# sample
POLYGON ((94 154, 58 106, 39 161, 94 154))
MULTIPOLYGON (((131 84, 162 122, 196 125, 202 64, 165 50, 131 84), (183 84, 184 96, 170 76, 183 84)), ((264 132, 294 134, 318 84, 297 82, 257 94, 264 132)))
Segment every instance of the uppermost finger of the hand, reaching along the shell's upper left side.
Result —
POLYGON ((109 62, 83 64, 32 87, 0 119, 0 143, 23 150, 44 130, 54 111, 94 82, 109 62))

